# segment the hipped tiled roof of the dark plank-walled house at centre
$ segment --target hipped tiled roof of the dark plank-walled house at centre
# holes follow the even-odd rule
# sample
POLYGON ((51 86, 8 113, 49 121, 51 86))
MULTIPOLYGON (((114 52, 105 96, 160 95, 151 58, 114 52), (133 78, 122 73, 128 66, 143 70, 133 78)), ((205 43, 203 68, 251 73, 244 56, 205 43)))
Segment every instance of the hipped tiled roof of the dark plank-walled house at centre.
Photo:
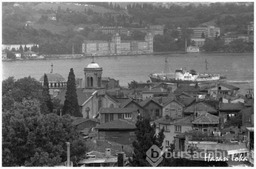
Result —
POLYGON ((116 119, 108 123, 100 124, 95 129, 136 129, 135 123, 123 119, 116 119))

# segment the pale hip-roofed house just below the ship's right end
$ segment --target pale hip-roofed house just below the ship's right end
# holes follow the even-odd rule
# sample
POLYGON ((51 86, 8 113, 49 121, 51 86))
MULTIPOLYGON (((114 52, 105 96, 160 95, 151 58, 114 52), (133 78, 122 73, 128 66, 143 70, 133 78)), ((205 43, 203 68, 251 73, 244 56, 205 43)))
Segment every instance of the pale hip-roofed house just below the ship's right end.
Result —
POLYGON ((217 93, 221 95, 236 95, 239 89, 239 87, 234 85, 220 83, 217 86, 210 87, 208 94, 210 94, 211 97, 217 97, 217 93))

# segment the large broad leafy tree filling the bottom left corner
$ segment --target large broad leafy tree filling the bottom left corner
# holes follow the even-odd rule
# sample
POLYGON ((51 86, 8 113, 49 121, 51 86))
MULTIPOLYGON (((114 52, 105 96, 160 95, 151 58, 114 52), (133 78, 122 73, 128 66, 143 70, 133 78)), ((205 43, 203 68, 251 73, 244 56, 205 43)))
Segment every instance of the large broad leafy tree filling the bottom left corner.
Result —
POLYGON ((66 141, 74 166, 85 157, 87 145, 74 131, 69 115, 40 113, 37 99, 24 99, 2 113, 2 165, 54 166, 66 161, 66 141))

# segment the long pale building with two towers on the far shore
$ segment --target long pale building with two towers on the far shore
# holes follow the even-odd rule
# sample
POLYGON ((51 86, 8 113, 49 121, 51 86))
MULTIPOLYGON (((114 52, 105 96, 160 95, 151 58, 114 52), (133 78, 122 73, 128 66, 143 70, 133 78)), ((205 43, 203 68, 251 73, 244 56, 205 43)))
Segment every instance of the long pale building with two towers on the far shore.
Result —
POLYGON ((85 54, 129 54, 129 53, 152 53, 153 36, 147 32, 145 41, 122 41, 118 33, 112 36, 112 41, 85 41, 82 44, 82 52, 85 54))

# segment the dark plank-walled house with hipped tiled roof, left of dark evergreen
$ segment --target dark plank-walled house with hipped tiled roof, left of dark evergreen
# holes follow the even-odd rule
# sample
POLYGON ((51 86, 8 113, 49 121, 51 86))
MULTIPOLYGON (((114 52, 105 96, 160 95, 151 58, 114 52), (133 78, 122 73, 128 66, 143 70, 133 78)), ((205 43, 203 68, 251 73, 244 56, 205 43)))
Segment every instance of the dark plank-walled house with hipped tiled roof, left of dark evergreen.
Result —
POLYGON ((132 144, 136 140, 136 126, 132 121, 116 119, 98 125, 98 139, 114 141, 120 144, 132 144))

